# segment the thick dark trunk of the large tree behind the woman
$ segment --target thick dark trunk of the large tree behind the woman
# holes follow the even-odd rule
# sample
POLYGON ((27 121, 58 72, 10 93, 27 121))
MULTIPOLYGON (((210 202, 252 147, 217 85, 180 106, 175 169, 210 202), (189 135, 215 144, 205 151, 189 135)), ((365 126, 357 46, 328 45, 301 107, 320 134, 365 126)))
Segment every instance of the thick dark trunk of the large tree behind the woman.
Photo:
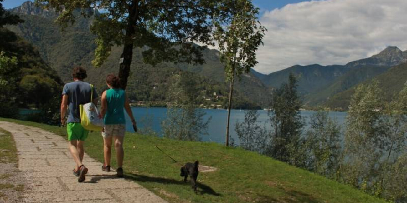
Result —
POLYGON ((130 75, 131 60, 133 60, 133 35, 136 33, 135 26, 138 20, 138 2, 133 0, 129 6, 129 17, 127 18, 126 38, 124 48, 120 56, 119 78, 123 89, 127 87, 127 79, 130 75))

